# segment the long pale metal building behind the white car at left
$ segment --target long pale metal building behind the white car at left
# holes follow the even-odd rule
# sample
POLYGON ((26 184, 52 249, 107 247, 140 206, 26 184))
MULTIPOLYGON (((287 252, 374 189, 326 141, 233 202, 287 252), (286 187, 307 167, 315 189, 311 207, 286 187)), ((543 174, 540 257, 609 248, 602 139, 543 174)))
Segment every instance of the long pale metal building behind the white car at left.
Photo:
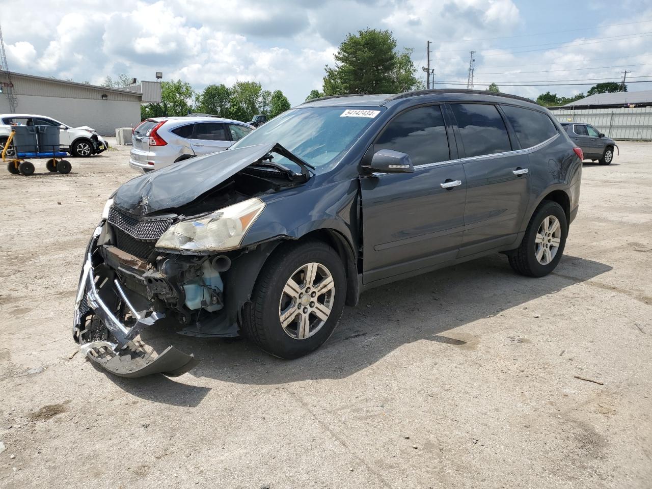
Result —
MULTIPOLYGON (((35 113, 67 125, 90 126, 102 136, 114 136, 119 127, 140 123, 140 104, 160 102, 160 83, 140 82, 113 89, 65 82, 0 70, 3 91, 12 89, 16 113, 35 113), (11 84, 11 86, 9 86, 11 84)), ((0 94, 0 113, 10 113, 6 93, 0 94)))

